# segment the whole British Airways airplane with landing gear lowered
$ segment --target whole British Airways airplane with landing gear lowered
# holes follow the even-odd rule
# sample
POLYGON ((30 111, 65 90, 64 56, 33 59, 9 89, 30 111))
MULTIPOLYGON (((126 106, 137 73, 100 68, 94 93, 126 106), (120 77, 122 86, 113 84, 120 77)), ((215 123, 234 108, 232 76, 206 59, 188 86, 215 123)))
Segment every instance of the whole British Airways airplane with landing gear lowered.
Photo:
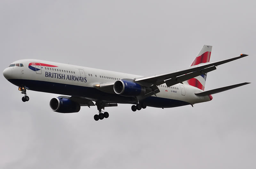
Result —
POLYGON ((212 46, 204 45, 187 69, 152 76, 125 74, 96 68, 69 65, 45 60, 17 60, 4 69, 4 77, 18 86, 29 101, 27 90, 59 94, 50 100, 52 111, 79 112, 81 106, 97 106, 98 121, 109 117, 106 107, 132 104, 132 111, 156 108, 172 108, 208 102, 212 95, 246 84, 204 91, 208 72, 217 66, 248 56, 240 56, 209 62, 212 46), (95 103, 94 103, 95 102, 95 103), (103 110, 105 111, 103 111, 103 110))

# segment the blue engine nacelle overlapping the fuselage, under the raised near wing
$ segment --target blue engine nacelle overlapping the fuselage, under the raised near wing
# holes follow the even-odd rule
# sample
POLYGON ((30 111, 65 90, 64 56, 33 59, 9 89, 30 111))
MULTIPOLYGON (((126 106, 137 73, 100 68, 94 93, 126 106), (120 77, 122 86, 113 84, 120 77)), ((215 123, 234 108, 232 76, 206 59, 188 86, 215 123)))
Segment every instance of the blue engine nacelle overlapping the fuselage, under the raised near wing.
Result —
POLYGON ((144 95, 146 92, 145 87, 137 83, 127 80, 119 80, 114 84, 114 91, 118 95, 123 96, 139 96, 144 95))

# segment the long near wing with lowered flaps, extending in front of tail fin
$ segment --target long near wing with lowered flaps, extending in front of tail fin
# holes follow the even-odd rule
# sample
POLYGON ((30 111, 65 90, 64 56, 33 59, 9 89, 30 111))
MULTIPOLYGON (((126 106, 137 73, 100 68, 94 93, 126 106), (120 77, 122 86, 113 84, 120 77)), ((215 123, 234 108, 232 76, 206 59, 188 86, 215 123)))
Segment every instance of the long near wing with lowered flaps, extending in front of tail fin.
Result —
POLYGON ((215 70, 216 67, 219 65, 243 58, 245 56, 248 56, 248 55, 241 54, 240 56, 237 56, 231 59, 221 60, 221 61, 206 63, 206 64, 200 64, 200 65, 189 67, 188 69, 175 71, 171 73, 139 77, 135 79, 135 83, 138 83, 145 87, 150 87, 152 85, 161 85, 163 83, 166 83, 166 85, 169 87, 178 83, 182 83, 183 81, 194 78, 201 74, 206 74, 208 72, 211 72, 215 70))

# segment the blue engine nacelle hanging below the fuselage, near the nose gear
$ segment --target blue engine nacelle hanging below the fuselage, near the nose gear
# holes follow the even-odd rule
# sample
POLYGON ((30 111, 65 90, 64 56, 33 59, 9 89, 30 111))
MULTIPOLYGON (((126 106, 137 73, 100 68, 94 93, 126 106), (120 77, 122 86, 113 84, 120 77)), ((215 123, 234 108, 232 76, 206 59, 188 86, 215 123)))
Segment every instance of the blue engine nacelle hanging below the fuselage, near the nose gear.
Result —
POLYGON ((52 111, 58 113, 76 113, 80 110, 80 104, 62 97, 54 97, 50 101, 52 111))

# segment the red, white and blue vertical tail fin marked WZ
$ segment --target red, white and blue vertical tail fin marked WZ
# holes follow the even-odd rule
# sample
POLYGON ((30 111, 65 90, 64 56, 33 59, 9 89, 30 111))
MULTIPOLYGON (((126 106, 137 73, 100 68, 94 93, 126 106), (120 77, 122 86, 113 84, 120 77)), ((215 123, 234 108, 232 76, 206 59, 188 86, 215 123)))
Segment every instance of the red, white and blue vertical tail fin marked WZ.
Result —
MULTIPOLYGON (((207 63, 210 61, 212 52, 212 46, 204 45, 201 51, 197 54, 195 60, 192 62, 190 66, 199 65, 201 63, 207 63)), ((206 82, 206 75, 201 74, 195 78, 187 80, 188 84, 194 87, 197 87, 201 90, 204 90, 205 82, 206 82)))

